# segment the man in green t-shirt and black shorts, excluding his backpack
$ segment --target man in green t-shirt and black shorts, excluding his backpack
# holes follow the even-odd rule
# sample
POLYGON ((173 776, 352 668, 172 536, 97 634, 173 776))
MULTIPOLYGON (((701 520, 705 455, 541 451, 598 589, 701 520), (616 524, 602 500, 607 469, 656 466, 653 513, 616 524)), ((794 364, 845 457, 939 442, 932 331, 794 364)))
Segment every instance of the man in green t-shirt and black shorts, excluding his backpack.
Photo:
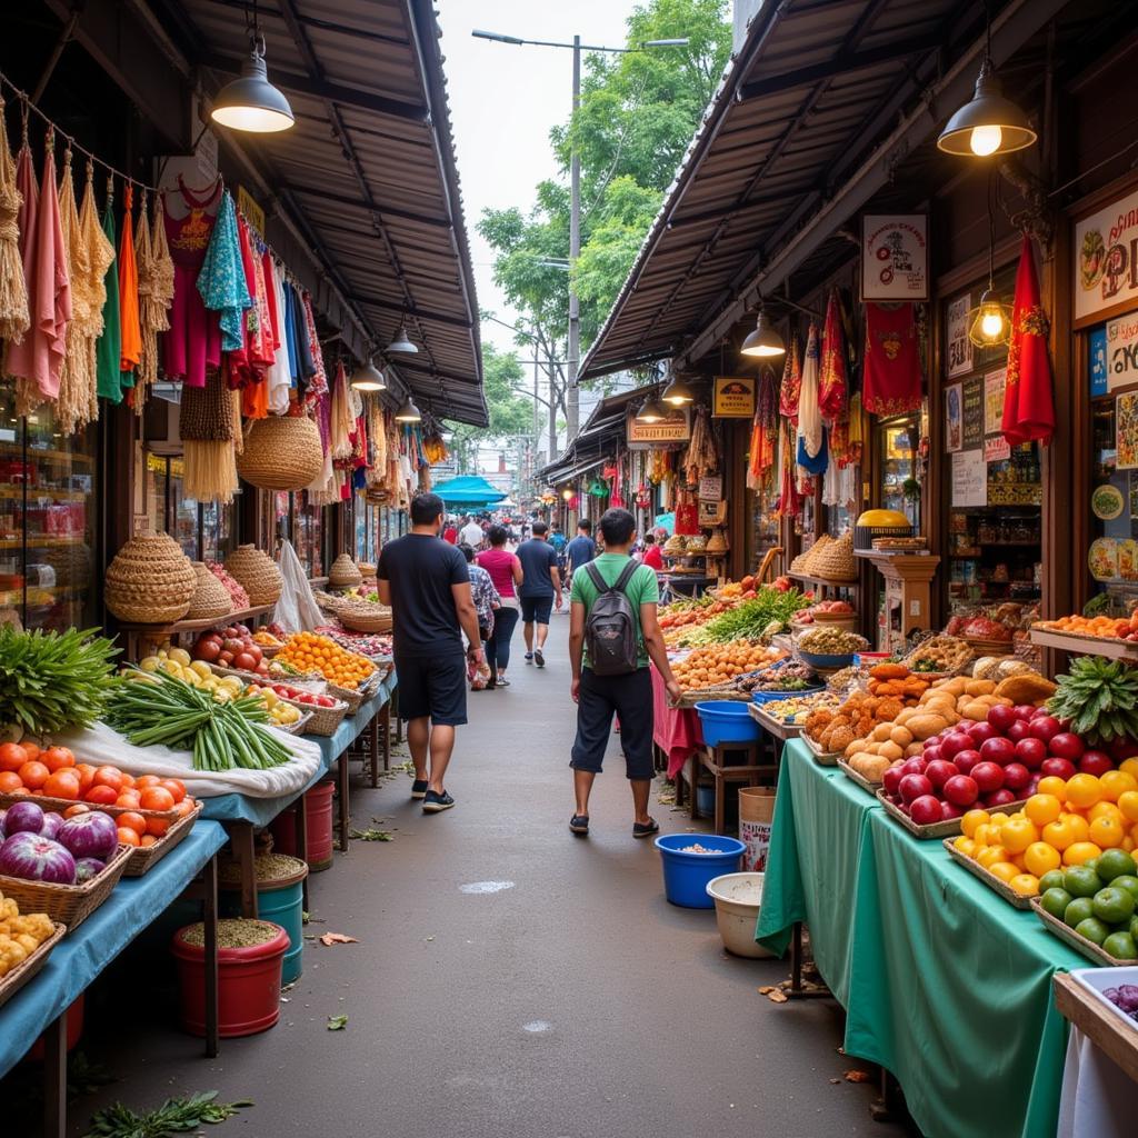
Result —
MULTIPOLYGON (((627 510, 608 510, 601 518, 601 536, 605 552, 594 564, 601 578, 612 586, 629 562, 628 551, 636 534, 636 519, 627 510)), ((655 572, 638 566, 625 585, 625 595, 636 625, 635 671, 617 676, 596 676, 585 653, 585 621, 600 595, 600 589, 588 572, 575 572, 570 594, 569 660, 572 665, 572 698, 577 703, 577 739, 572 747, 574 791, 577 813, 569 822, 575 834, 588 833, 588 795, 593 780, 601 773, 601 764, 612 732, 612 717, 620 719, 620 743, 633 791, 633 836, 648 838, 660 827, 648 813, 649 792, 652 787, 652 679, 649 660, 663 677, 673 699, 681 694, 668 666, 663 634, 657 621, 655 610, 660 588, 655 572)))

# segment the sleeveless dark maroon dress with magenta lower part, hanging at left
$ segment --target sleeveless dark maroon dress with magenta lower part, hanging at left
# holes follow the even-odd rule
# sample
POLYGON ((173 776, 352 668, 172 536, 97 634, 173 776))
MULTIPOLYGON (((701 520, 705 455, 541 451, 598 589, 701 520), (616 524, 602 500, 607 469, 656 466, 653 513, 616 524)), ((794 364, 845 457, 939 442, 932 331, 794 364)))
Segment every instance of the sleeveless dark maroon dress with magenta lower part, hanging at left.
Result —
POLYGON ((217 313, 207 311, 197 288, 221 198, 221 179, 200 191, 179 178, 176 192, 164 195, 163 222, 174 271, 165 371, 167 379, 181 379, 187 387, 205 387, 206 368, 221 366, 217 313))

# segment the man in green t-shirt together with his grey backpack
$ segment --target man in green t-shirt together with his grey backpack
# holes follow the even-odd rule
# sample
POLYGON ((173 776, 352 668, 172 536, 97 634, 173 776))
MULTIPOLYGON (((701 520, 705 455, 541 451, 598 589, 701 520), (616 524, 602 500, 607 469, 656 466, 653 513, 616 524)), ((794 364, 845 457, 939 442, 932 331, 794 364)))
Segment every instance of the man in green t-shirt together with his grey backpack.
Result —
POLYGON ((620 719, 620 744, 633 791, 633 836, 648 838, 660 828, 648 813, 654 774, 649 660, 673 700, 682 692, 657 621, 660 588, 655 572, 628 555, 635 533, 636 519, 627 510, 607 510, 601 518, 605 552, 572 578, 569 661, 577 739, 569 765, 577 801, 569 828, 575 834, 588 833, 588 797, 601 773, 613 715, 620 719))

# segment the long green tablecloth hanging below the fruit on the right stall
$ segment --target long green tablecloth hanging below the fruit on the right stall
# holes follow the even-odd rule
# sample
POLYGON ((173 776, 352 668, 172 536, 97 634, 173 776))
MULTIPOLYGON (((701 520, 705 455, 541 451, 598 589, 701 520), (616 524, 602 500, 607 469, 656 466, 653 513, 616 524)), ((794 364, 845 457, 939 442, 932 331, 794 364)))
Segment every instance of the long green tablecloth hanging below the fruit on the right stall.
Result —
POLYGON ((930 1138, 1050 1138, 1066 1044, 1050 978, 1087 962, 787 744, 756 932, 806 920, 846 1050, 892 1072, 930 1138))

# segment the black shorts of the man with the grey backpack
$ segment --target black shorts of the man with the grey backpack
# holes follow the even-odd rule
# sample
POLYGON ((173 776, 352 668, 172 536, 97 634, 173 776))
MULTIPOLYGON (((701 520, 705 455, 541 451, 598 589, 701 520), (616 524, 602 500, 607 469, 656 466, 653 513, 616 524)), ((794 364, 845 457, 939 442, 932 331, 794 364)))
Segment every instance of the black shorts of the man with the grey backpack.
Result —
POLYGON ((580 674, 577 700, 577 740, 569 766, 601 773, 605 748, 612 733, 612 716, 620 718, 620 745, 629 778, 651 778, 652 677, 648 668, 624 676, 595 676, 589 668, 580 674))

